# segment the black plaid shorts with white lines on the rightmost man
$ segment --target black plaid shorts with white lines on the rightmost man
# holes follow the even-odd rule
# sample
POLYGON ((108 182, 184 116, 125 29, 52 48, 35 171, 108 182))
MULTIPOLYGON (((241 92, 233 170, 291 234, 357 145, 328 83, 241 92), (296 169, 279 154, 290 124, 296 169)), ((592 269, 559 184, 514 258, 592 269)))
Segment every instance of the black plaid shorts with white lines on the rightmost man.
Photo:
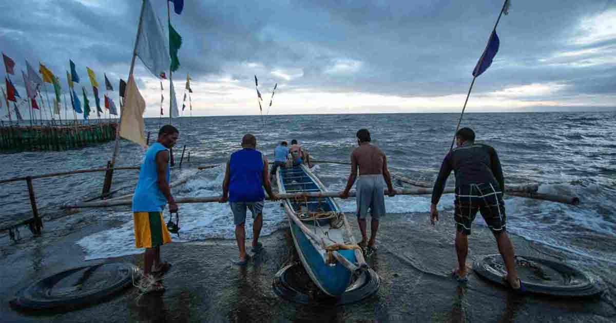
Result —
POLYGON ((455 199, 456 229, 471 234, 472 221, 477 211, 493 233, 506 231, 505 202, 503 192, 492 183, 461 185, 456 188, 455 199))

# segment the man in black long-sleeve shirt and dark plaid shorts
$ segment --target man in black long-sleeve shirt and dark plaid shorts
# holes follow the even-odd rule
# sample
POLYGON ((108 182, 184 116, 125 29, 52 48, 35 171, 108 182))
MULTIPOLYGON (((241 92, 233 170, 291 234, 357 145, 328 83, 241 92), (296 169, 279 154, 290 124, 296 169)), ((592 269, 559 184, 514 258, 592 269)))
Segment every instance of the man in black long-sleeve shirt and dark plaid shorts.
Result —
POLYGON ((432 225, 439 220, 436 206, 445 189, 447 177, 453 170, 456 177, 455 221, 458 268, 452 275, 458 281, 466 281, 468 235, 471 234, 472 221, 479 211, 496 238, 498 250, 507 268, 506 280, 517 290, 521 288, 521 283, 517 277, 513 245, 506 233, 503 170, 496 150, 474 141, 475 133, 470 128, 462 128, 456 132, 457 146, 445 156, 439 177, 434 183, 430 207, 432 225))

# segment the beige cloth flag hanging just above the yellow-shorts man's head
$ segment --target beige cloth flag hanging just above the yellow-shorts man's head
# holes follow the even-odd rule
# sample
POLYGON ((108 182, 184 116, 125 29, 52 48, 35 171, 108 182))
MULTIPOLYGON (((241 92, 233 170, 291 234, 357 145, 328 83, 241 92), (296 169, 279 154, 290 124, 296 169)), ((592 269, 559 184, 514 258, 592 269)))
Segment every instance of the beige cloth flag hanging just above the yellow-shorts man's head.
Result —
POLYGON ((128 78, 128 84, 126 84, 124 111, 120 119, 120 137, 147 148, 144 138, 144 111, 144 97, 139 93, 135 79, 131 75, 128 78))

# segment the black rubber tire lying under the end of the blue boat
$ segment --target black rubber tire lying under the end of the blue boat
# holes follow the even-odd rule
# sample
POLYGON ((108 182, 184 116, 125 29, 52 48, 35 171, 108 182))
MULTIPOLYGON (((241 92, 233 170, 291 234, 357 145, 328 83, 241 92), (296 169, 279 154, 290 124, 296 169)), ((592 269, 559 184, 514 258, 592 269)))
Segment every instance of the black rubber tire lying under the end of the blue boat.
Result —
POLYGON ((330 306, 340 306, 357 303, 359 301, 364 300, 365 298, 374 295, 379 290, 379 286, 381 285, 381 279, 378 274, 372 269, 368 269, 363 271, 362 274, 368 275, 364 284, 350 292, 343 293, 341 297, 331 297, 328 295, 323 295, 318 298, 311 297, 305 292, 294 288, 287 279, 287 274, 290 272, 289 269, 293 266, 301 266, 300 264, 291 264, 286 265, 281 268, 278 273, 274 276, 274 282, 272 282, 272 289, 276 295, 284 300, 291 301, 292 303, 298 304, 310 304, 310 305, 330 305, 330 306))

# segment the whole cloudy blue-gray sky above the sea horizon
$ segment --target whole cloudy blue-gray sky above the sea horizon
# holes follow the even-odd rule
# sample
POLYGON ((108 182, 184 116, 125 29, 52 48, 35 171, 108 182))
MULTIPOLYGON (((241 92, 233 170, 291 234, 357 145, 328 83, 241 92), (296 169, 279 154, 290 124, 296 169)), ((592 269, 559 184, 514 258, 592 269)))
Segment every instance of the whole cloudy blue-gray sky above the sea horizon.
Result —
MULTIPOLYGON (((150 1, 164 22, 166 1, 150 1)), ((89 88, 88 66, 117 88, 128 75, 140 2, 1 1, 0 50, 16 71, 24 60, 43 62, 64 88, 69 58, 82 86, 89 88)), ((616 1, 512 2, 497 28, 498 55, 477 78, 467 111, 613 109, 616 1)), ((193 115, 258 114, 256 74, 265 113, 278 83, 270 114, 458 112, 502 4, 185 0, 181 15, 171 13, 183 38, 177 97, 190 73, 193 115)), ((160 84, 136 66, 145 115, 158 116, 160 84)), ((13 79, 23 91, 20 76, 13 79)))

